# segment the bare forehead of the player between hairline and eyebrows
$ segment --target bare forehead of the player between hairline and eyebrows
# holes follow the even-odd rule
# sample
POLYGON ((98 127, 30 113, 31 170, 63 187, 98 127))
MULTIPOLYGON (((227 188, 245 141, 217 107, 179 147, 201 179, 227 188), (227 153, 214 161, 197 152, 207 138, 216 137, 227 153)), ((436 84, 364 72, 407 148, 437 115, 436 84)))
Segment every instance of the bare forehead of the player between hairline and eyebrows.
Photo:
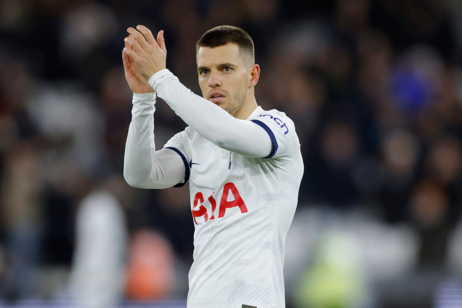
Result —
POLYGON ((220 63, 231 62, 237 65, 243 63, 236 44, 226 44, 214 48, 200 47, 197 51, 197 66, 213 66, 220 63))

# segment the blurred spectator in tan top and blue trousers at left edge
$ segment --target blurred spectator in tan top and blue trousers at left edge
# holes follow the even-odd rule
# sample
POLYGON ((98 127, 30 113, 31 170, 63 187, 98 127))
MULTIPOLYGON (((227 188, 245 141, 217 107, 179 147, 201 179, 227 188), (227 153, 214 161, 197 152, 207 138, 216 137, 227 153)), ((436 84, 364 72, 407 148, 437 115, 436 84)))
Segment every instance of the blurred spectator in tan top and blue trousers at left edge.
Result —
MULTIPOLYGON (((14 278, 10 284, 18 296, 33 293, 34 272, 40 265, 43 241, 43 179, 38 171, 38 155, 26 141, 10 146, 2 179, 2 225, 6 243, 14 258, 14 278)), ((6 255, 4 256, 6 257, 6 255)))

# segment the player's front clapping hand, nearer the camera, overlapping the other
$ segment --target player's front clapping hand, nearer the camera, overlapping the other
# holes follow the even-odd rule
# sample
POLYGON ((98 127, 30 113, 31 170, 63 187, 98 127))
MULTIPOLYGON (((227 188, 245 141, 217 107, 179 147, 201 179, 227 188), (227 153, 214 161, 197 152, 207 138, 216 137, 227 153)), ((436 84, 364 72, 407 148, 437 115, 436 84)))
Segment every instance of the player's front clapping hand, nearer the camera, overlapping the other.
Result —
POLYGON ((123 48, 123 52, 133 59, 141 75, 149 80, 152 75, 166 67, 167 49, 165 48, 164 30, 160 30, 157 34, 157 42, 151 30, 145 26, 138 25, 136 29, 130 27, 127 32, 133 35, 134 39, 131 37, 124 39, 132 49, 123 48))

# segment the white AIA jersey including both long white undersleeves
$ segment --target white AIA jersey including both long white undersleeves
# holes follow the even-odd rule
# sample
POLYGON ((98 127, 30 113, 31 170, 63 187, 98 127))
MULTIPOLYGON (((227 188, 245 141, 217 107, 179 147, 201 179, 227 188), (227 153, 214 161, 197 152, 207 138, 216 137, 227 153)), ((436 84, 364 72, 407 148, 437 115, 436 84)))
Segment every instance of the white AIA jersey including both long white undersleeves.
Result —
POLYGON ((156 93, 134 94, 124 177, 140 188, 189 182, 188 308, 285 307, 284 243, 304 168, 293 122, 261 107, 236 119, 168 70, 149 84, 189 126, 156 151, 156 93))

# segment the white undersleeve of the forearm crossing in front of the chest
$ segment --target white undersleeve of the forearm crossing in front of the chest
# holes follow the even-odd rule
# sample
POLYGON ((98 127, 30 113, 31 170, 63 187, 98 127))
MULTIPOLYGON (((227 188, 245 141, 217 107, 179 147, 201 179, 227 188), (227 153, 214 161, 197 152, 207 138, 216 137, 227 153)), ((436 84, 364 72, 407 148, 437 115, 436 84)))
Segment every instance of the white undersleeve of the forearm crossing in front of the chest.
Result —
POLYGON ((252 121, 236 119, 194 94, 169 70, 155 73, 148 82, 176 115, 220 148, 246 157, 268 157, 274 149, 275 145, 263 127, 252 121))

